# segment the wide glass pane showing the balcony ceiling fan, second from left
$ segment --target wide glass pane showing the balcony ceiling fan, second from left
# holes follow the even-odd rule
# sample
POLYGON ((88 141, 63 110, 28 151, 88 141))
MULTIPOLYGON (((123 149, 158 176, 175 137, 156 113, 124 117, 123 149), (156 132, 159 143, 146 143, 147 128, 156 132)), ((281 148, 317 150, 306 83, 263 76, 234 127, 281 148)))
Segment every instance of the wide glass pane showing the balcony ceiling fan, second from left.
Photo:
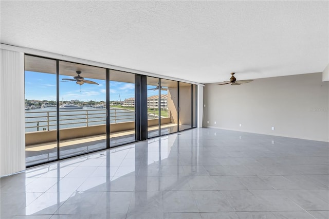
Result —
POLYGON ((104 68, 59 62, 60 158, 106 149, 104 68))

